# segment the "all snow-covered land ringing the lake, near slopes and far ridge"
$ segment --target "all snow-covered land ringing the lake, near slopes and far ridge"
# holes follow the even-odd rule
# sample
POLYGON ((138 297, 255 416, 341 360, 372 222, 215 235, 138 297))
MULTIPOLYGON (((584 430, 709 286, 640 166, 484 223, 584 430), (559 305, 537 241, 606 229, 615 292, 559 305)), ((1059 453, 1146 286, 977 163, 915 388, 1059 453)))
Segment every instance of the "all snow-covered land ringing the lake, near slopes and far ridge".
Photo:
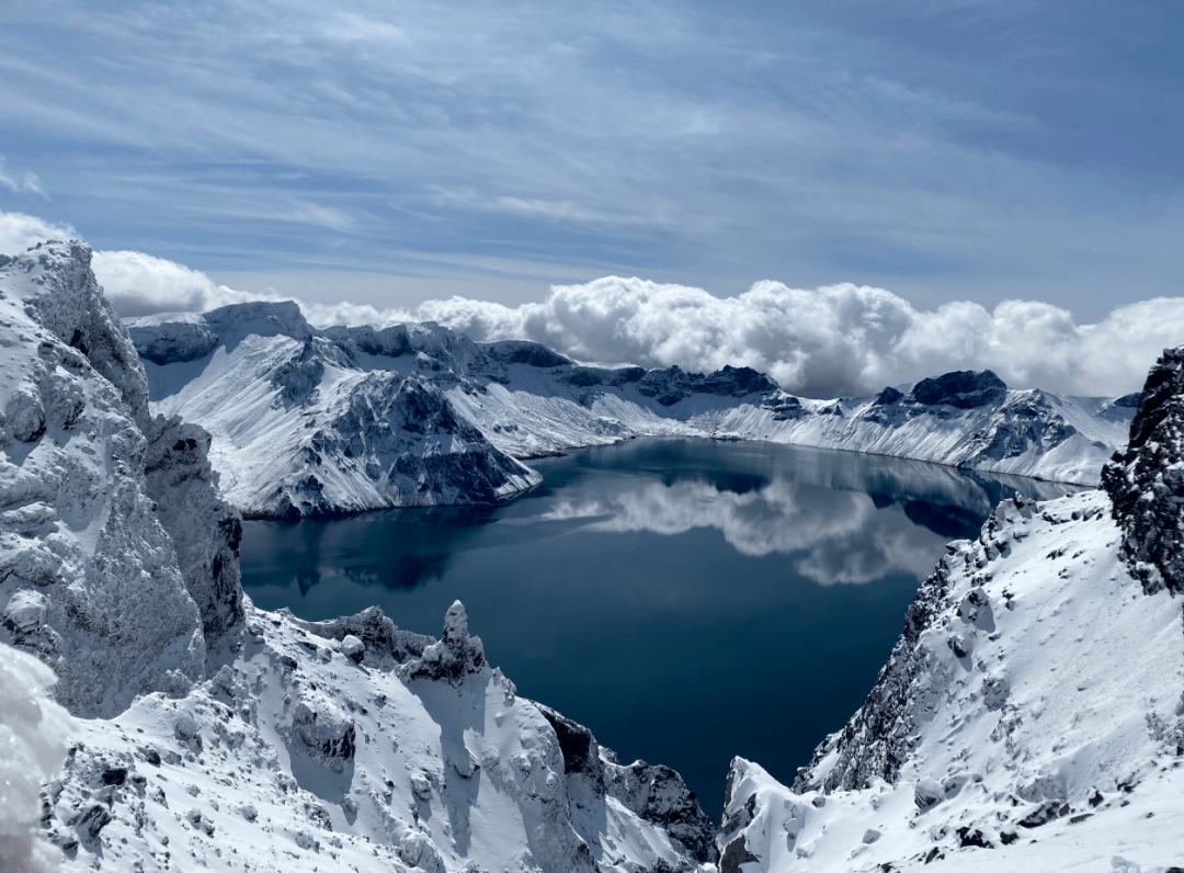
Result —
MULTIPOLYGON (((1184 858, 1184 349, 1153 371, 1106 489, 1005 500, 951 544, 863 707, 793 787, 736 758, 715 832, 677 773, 623 765, 520 698, 459 603, 439 640, 377 608, 320 623, 255 609, 210 457, 236 500, 258 476, 295 507, 290 477, 315 471, 330 499, 302 506, 321 509, 496 500, 536 481, 506 450, 642 432, 1081 479, 1128 398, 961 373, 934 380, 957 403, 912 386, 810 400, 749 391, 751 371, 593 372, 430 325, 315 333, 255 303, 137 322, 178 358, 146 375, 89 262, 50 243, 0 267, 6 869, 1164 873, 1184 858), (188 358, 207 329, 217 345, 188 358), (153 415, 193 410, 212 436, 153 415), (470 455, 487 466, 433 466, 470 455), (379 458, 406 481, 361 469, 379 458)), ((731 529, 652 501, 629 524, 731 529)))

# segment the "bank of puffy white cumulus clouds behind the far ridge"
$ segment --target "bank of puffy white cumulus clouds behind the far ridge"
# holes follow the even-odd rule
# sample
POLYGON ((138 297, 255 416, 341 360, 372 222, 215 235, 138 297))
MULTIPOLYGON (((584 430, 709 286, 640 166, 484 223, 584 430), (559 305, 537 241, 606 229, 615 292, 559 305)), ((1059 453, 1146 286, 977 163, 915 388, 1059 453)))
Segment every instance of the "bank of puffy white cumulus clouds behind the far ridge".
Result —
MULTIPOLYGON (((0 212, 0 251, 72 233, 0 212)), ((136 251, 96 252, 95 272, 122 315, 294 300, 219 285, 204 272, 136 251)), ((803 289, 766 281, 718 297, 701 288, 617 276, 555 285, 541 302, 516 307, 464 297, 411 310, 297 302, 320 326, 437 321, 478 340, 536 340, 583 361, 676 364, 694 372, 751 366, 786 391, 817 397, 862 396, 982 368, 1012 387, 1118 396, 1139 390, 1156 357, 1184 342, 1184 297, 1121 306, 1095 325, 1079 325, 1069 310, 1037 301, 1004 301, 993 309, 954 301, 920 310, 868 285, 803 289)))

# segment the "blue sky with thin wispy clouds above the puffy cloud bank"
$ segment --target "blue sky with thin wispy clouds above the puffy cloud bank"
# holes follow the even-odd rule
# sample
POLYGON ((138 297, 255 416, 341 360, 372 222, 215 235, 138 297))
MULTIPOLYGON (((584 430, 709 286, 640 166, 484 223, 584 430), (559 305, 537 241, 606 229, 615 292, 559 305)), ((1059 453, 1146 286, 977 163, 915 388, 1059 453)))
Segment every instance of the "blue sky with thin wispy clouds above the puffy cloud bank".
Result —
POLYGON ((0 210, 236 288, 1176 296, 1184 6, 0 0, 0 210))

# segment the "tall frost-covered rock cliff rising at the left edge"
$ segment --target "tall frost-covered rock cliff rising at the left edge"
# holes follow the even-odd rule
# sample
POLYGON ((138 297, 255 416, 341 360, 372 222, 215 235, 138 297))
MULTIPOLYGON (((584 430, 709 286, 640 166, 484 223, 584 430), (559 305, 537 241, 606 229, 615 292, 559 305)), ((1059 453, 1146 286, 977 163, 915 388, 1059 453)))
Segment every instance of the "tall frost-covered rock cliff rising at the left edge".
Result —
POLYGON ((234 649, 242 621, 237 513, 217 494, 207 436, 149 415, 85 245, 9 261, 0 295, 4 628, 53 667, 75 713, 185 693, 213 649, 234 649), (170 454, 165 474, 156 464, 170 454), (179 499, 215 524, 194 529, 179 499))

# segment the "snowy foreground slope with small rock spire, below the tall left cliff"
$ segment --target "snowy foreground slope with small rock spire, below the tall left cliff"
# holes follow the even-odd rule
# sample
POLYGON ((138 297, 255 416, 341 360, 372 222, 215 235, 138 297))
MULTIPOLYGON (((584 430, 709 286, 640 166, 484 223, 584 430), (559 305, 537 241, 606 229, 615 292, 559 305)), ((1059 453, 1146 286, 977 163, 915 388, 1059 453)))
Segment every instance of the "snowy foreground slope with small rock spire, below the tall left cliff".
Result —
POLYGON ((440 642, 377 608, 320 624, 249 609, 247 628, 194 693, 86 723, 47 795, 67 868, 714 869, 677 775, 556 733, 459 604, 440 642))

